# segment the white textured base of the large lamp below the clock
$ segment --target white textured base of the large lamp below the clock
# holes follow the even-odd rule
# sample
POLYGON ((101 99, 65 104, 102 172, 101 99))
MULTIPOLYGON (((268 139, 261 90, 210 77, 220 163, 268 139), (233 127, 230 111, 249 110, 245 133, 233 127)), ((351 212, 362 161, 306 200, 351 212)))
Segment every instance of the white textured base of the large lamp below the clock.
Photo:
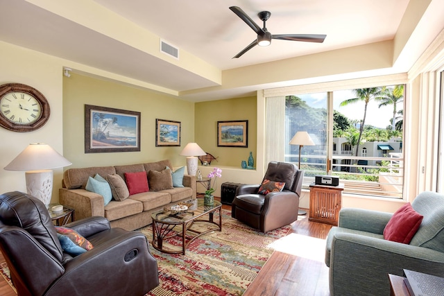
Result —
POLYGON ((26 177, 26 191, 29 195, 41 200, 46 208, 51 203, 53 193, 53 171, 28 171, 26 177))

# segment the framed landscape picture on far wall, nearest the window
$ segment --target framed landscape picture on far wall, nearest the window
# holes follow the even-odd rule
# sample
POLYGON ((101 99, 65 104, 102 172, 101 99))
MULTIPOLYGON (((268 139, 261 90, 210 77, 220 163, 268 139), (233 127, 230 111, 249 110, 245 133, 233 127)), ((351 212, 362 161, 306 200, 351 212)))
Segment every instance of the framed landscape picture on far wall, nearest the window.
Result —
POLYGON ((217 146, 248 147, 248 120, 218 121, 217 146))

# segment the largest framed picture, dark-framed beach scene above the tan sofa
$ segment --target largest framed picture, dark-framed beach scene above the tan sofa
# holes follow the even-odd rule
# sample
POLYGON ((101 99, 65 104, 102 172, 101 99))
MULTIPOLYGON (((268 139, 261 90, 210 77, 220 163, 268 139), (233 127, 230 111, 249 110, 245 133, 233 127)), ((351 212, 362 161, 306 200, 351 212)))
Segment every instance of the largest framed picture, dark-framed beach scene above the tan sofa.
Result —
POLYGON ((140 151, 140 112, 85 105, 85 153, 140 151))

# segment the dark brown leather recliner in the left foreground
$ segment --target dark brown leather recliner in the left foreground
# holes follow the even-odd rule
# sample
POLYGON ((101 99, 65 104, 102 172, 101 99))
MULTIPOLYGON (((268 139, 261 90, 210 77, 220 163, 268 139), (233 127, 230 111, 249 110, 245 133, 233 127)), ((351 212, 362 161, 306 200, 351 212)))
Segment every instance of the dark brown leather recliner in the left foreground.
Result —
POLYGON ((40 200, 18 191, 0 195, 0 249, 18 295, 144 295, 159 284, 141 232, 110 228, 103 217, 66 227, 94 248, 74 258, 65 254, 40 200))

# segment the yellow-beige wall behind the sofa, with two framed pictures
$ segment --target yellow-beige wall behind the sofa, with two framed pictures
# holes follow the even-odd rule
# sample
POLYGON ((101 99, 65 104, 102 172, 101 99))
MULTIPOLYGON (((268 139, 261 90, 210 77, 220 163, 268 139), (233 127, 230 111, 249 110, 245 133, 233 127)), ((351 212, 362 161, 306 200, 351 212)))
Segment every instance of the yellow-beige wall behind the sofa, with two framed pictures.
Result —
POLYGON ((170 159, 185 165, 180 152, 194 141, 194 103, 78 73, 63 78, 63 146, 71 167, 135 164, 170 159), (140 152, 85 153, 85 104, 141 112, 140 152), (180 121, 181 145, 155 146, 155 119, 180 121))

